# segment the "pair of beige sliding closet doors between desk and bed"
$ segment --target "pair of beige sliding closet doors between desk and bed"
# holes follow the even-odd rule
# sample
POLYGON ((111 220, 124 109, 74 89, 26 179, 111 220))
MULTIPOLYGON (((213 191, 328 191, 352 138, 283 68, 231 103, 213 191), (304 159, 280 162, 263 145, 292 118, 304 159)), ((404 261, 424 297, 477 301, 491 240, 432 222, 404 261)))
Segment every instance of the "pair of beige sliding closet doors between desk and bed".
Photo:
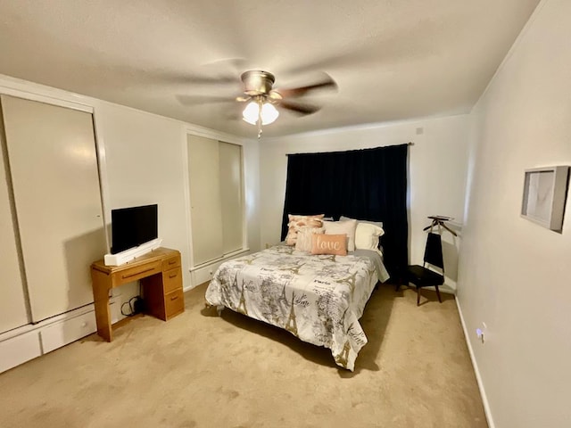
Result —
POLYGON ((244 246, 242 146, 187 136, 193 265, 244 246))

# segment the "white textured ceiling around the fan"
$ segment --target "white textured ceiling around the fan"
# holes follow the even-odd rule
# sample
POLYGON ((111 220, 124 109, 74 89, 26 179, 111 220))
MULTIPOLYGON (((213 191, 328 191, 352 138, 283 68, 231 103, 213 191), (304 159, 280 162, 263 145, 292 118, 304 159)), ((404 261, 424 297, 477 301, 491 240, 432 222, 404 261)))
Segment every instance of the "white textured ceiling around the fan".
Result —
POLYGON ((320 111, 282 111, 264 136, 466 113, 538 3, 3 0, 0 73, 236 136, 256 136, 244 104, 181 101, 232 99, 256 69, 277 88, 319 72, 338 85, 299 99, 320 111))

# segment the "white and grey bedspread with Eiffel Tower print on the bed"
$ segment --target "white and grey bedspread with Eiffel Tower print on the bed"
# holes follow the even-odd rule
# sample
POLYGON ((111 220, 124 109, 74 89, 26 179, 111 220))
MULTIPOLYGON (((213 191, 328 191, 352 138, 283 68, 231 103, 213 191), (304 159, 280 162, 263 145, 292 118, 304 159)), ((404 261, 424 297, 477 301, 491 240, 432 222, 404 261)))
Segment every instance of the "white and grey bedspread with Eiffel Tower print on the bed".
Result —
POLYGON ((226 261, 206 290, 211 306, 229 308, 284 328, 331 350, 335 363, 354 369, 367 343, 359 319, 377 281, 388 279, 380 256, 311 255, 277 245, 226 261))

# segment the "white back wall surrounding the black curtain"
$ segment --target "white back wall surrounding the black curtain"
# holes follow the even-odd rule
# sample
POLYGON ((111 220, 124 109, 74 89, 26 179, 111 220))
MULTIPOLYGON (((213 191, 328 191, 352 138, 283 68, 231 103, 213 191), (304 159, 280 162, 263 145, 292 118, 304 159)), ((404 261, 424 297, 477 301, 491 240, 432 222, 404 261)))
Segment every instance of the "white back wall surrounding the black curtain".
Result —
MULTIPOLYGON (((413 142, 409 156, 410 261, 422 263, 427 216, 464 218, 468 116, 364 126, 261 141, 261 244, 277 243, 284 210, 287 153, 335 152, 413 142)), ((443 232, 446 285, 455 290, 459 239, 443 232)))

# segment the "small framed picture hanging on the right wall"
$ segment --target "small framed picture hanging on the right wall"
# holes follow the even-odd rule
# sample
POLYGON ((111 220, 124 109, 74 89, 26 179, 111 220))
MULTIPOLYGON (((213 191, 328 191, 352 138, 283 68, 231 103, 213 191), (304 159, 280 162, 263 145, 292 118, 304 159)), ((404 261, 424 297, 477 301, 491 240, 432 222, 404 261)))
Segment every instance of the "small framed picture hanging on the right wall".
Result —
POLYGON ((522 217, 561 233, 568 185, 568 166, 525 169, 522 217))

